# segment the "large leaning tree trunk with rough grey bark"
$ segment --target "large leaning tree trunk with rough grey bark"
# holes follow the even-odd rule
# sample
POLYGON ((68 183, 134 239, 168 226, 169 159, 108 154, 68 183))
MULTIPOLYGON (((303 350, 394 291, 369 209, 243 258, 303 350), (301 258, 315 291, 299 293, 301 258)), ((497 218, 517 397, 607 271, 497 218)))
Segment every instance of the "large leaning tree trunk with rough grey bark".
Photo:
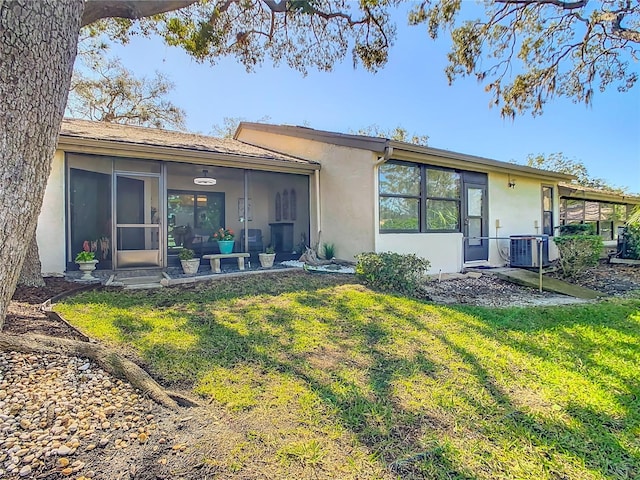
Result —
POLYGON ((42 206, 83 7, 0 0, 0 328, 42 206))

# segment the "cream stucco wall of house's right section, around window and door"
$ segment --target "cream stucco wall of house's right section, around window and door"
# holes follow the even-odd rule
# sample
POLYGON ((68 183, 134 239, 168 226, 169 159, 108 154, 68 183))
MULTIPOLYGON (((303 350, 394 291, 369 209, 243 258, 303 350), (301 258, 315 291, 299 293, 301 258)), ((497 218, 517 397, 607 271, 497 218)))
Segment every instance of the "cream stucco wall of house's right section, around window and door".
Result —
MULTIPOLYGON (((451 273, 464 264, 461 233, 380 234, 378 233, 378 178, 376 156, 366 150, 335 146, 308 139, 242 129, 239 139, 285 152, 322 165, 320 170, 321 242, 333 242, 338 256, 351 258, 363 251, 415 253, 431 262, 431 273, 451 273), (346 232, 346 233, 345 233, 346 232), (345 235, 348 238, 345 238, 345 235)), ((490 167, 488 168, 490 170, 490 167)), ((475 169, 469 169, 474 171, 475 169)), ((554 187, 554 224, 558 224, 558 189, 553 182, 507 173, 488 172, 487 236, 535 235, 542 232, 542 185, 554 187), (496 229, 496 221, 500 228, 496 229)), ((313 201, 312 193, 312 201, 313 201)), ((313 217, 313 212, 312 212, 313 217)), ((312 230, 313 231, 313 230, 312 230)), ((509 240, 490 240, 485 264, 508 262, 509 240), (502 255, 501 255, 502 252, 502 255)), ((550 258, 557 250, 549 241, 550 258)))

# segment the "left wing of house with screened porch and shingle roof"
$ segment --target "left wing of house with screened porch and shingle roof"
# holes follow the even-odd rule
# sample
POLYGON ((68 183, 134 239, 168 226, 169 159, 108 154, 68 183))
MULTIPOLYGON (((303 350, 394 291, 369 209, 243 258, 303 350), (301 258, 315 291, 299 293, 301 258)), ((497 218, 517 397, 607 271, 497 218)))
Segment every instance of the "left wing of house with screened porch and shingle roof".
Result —
POLYGON ((85 242, 98 268, 163 268, 185 247, 218 253, 220 227, 241 251, 291 254, 309 241, 319 169, 233 139, 65 119, 38 220, 42 271, 77 269, 85 242))

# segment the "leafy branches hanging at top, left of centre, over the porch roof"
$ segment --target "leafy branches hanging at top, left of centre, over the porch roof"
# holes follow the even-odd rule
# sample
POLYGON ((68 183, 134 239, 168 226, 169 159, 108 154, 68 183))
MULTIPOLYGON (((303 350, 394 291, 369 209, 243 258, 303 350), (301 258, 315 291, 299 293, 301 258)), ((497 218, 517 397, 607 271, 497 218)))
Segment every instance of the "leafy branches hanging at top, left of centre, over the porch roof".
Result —
POLYGON ((330 71, 349 51, 354 63, 376 71, 387 62, 395 39, 390 14, 399 3, 201 1, 134 22, 105 20, 91 27, 94 34, 104 31, 122 42, 134 35, 158 34, 199 62, 214 64, 231 56, 248 71, 265 60, 303 73, 309 67, 330 71))

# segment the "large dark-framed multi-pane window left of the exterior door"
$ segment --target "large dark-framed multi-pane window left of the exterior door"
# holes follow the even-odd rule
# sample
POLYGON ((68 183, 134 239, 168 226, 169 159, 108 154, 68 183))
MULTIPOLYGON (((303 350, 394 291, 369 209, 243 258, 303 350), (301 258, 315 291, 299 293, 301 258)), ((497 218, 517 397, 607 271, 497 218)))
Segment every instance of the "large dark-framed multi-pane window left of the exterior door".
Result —
POLYGON ((460 231, 460 173, 388 162, 379 169, 380 231, 460 231))

